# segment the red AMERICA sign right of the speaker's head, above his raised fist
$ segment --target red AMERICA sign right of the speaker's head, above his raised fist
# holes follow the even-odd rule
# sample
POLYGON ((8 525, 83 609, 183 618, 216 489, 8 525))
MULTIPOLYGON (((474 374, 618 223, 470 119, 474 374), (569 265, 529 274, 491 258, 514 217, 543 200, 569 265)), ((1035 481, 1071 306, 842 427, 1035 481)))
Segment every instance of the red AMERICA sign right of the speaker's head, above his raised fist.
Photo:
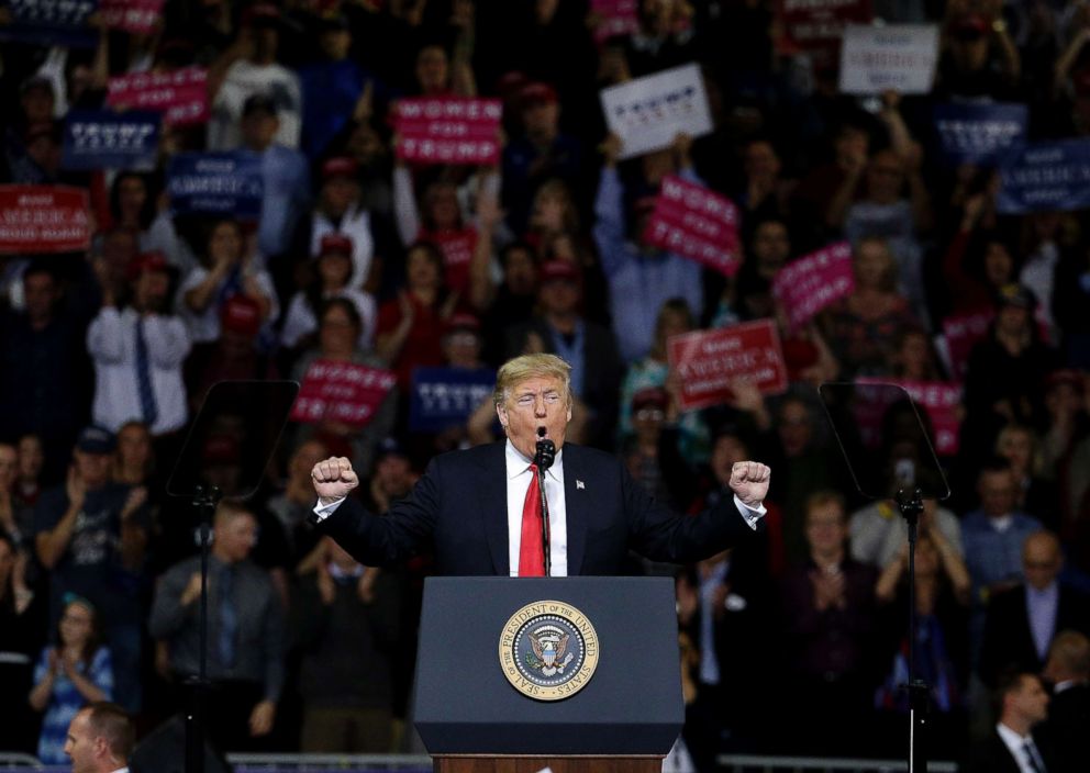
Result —
POLYGON ((771 320, 671 336, 666 350, 680 377, 682 411, 728 402, 736 380, 755 382, 763 394, 787 390, 787 366, 771 320))

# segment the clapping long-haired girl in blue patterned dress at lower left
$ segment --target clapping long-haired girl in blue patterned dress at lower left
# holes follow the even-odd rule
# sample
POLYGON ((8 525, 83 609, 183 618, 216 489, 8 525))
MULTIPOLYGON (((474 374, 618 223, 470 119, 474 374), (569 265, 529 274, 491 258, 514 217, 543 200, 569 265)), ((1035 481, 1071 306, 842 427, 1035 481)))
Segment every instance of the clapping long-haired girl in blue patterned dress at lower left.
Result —
POLYGON ((110 650, 102 643, 98 613, 86 598, 66 597, 57 624, 57 643, 42 650, 34 669, 30 703, 44 712, 37 759, 46 765, 68 764, 68 725, 80 708, 109 701, 113 693, 110 650))

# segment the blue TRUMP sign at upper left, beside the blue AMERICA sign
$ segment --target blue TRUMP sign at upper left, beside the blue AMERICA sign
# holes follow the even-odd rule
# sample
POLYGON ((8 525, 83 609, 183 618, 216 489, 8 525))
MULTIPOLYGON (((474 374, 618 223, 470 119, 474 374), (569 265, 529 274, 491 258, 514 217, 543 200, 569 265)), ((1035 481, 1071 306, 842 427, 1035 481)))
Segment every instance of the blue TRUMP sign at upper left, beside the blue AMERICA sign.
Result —
POLYGON ((154 169, 163 116, 153 112, 86 110, 65 121, 65 169, 154 169))

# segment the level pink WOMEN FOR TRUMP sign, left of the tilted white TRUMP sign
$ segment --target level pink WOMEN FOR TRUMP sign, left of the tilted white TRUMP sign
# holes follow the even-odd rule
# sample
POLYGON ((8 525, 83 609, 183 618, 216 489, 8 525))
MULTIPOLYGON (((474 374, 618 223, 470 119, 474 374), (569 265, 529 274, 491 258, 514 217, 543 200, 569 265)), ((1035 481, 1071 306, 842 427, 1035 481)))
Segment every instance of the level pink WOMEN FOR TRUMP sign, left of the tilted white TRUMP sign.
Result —
POLYGON ((498 99, 422 97, 394 111, 398 158, 421 164, 496 164, 503 105, 498 99))

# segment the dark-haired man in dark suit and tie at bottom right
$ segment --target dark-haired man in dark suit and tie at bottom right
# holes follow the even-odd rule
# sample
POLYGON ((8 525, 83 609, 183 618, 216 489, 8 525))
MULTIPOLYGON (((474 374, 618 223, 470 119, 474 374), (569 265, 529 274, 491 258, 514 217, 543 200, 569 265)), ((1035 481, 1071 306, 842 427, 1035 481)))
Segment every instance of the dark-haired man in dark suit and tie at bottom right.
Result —
POLYGON ((1004 674, 997 690, 999 722, 969 748, 960 773, 1052 773, 1030 731, 1048 714, 1048 693, 1041 679, 1026 672, 1004 674))

